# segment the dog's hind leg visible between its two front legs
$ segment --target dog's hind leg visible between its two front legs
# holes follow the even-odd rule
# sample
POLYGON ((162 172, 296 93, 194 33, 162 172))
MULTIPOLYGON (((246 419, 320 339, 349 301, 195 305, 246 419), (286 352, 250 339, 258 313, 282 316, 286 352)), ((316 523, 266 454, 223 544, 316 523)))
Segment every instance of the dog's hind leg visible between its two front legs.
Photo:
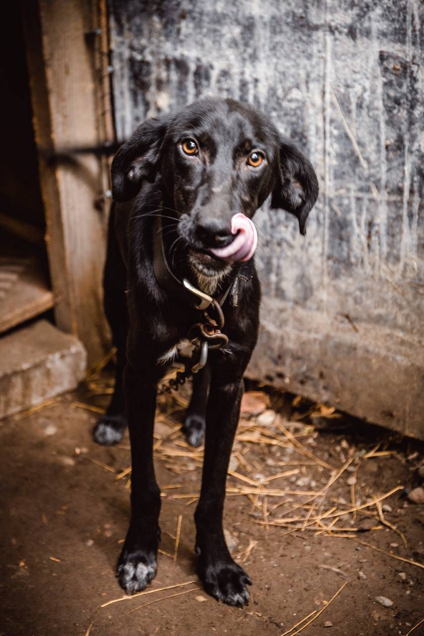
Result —
POLYGON ((192 446, 200 446, 203 441, 210 382, 211 370, 209 364, 206 364, 193 377, 192 399, 188 405, 183 425, 185 438, 192 446))

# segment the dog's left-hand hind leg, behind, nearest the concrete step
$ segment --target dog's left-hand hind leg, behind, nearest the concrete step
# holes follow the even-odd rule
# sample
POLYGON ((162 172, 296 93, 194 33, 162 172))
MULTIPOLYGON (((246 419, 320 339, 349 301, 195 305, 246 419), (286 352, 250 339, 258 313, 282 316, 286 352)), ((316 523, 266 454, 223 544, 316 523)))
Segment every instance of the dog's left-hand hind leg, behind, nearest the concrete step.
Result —
POLYGON ((112 331, 112 343, 117 347, 115 390, 106 413, 99 419, 93 431, 94 441, 106 446, 120 442, 127 427, 122 377, 126 363, 125 348, 129 319, 125 298, 126 272, 115 235, 114 214, 112 210, 103 282, 104 311, 112 331))

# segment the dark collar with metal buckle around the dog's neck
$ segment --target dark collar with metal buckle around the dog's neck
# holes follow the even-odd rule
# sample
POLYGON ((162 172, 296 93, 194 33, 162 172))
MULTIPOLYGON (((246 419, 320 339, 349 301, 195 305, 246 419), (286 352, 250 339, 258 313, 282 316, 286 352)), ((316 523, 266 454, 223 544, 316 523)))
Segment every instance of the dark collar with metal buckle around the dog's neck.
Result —
MULTIPOLYGON (((213 297, 197 289, 187 279, 180 280, 171 271, 166 259, 164 241, 162 238, 162 217, 158 214, 153 223, 153 271, 159 287, 177 300, 183 300, 191 307, 204 311, 213 302, 213 297)), ((222 306, 227 300, 231 288, 236 286, 231 282, 223 294, 217 296, 216 300, 222 306)))

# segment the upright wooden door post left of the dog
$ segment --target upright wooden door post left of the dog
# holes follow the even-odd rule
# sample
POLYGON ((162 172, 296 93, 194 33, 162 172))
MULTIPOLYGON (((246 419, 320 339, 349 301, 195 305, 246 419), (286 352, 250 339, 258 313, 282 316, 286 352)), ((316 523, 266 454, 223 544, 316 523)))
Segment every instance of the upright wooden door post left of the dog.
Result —
POLYGON ((108 346, 101 284, 107 164, 95 156, 56 164, 46 157, 55 150, 102 143, 111 134, 110 109, 104 107, 107 85, 102 82, 99 90, 97 68, 99 60, 107 64, 107 55, 96 53, 96 47, 104 46, 105 34, 96 33, 101 20, 104 24, 103 4, 103 0, 21 3, 55 319, 60 328, 82 340, 90 362, 108 346))

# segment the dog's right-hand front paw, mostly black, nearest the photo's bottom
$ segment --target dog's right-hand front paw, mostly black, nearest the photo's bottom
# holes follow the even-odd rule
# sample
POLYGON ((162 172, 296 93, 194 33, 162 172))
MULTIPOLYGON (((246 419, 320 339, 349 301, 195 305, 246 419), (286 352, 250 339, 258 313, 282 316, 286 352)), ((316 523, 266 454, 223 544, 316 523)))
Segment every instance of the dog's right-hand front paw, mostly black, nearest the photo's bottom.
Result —
POLYGON ((233 560, 218 561, 206 566, 198 562, 197 574, 204 590, 216 600, 237 607, 248 605, 249 592, 246 585, 251 585, 251 580, 233 560))

